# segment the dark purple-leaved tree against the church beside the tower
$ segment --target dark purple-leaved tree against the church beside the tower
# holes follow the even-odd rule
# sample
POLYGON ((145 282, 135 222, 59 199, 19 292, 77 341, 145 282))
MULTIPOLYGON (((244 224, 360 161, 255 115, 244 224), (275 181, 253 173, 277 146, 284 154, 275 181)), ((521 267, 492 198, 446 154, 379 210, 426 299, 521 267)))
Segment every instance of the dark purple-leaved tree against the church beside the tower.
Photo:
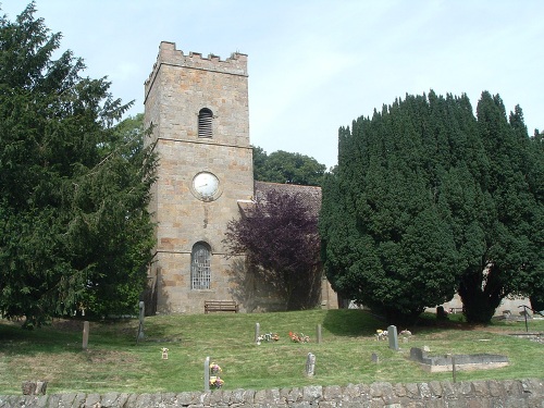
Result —
POLYGON ((228 222, 223 243, 230 256, 246 255, 262 279, 285 293, 288 310, 316 306, 318 219, 300 194, 268 190, 244 217, 228 222))

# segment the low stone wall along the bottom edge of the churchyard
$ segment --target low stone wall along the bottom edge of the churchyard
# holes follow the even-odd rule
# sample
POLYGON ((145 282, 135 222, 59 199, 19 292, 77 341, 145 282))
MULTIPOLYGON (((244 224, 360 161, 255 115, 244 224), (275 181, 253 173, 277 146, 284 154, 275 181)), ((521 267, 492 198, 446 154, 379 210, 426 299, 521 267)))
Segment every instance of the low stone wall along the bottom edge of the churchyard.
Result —
POLYGON ((373 383, 209 393, 0 396, 0 408, 544 408, 544 380, 373 383))

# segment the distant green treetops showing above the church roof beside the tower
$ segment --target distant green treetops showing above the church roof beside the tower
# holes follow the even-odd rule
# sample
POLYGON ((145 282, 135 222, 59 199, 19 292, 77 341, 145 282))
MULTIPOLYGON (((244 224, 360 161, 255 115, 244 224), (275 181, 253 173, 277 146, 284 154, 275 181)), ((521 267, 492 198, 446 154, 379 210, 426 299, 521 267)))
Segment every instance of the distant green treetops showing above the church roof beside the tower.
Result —
POLYGON ((270 154, 254 146, 254 178, 259 182, 320 186, 326 166, 300 153, 277 150, 270 154))

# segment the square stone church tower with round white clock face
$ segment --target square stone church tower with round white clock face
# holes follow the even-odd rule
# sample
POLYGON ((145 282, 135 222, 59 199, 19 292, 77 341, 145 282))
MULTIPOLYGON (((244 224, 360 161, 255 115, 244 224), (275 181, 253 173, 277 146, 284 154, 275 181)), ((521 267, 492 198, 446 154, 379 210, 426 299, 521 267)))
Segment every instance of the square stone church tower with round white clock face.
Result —
POLYGON ((156 311, 201 313, 205 300, 234 299, 222 239, 238 201, 254 196, 247 55, 223 61, 161 42, 144 103, 146 144, 159 156, 150 207, 156 311))

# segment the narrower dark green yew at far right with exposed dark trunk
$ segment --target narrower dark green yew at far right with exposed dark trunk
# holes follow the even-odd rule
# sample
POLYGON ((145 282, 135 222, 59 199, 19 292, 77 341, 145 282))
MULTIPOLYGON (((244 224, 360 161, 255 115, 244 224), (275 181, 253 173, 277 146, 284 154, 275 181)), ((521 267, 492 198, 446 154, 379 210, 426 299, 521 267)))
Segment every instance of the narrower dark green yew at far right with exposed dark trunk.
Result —
POLYGON ((483 268, 466 270, 459 295, 469 321, 489 322, 506 296, 531 295, 534 283, 544 279, 544 202, 536 195, 537 186, 530 182, 536 163, 530 159, 533 141, 528 137, 521 109, 516 107, 508 122, 500 98, 483 92, 477 116, 489 160, 489 173, 480 178, 489 197, 485 219, 481 220, 483 268))

